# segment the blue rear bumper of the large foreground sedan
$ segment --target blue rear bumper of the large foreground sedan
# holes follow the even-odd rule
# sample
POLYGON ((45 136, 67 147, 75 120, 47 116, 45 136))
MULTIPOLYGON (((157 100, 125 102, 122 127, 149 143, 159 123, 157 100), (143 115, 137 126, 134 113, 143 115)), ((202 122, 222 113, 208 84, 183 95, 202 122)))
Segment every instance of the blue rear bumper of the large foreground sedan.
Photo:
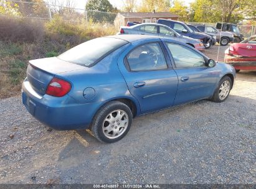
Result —
POLYGON ((98 103, 77 103, 69 95, 40 96, 27 80, 22 84, 22 103, 34 118, 57 130, 87 129, 100 106, 98 103))

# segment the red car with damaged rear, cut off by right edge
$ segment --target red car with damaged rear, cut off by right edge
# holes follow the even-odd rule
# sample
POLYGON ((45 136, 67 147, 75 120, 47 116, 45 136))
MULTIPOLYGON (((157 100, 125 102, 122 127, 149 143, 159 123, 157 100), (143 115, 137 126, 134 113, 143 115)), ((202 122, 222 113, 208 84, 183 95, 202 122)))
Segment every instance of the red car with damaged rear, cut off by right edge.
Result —
POLYGON ((239 44, 231 44, 225 50, 225 63, 240 70, 256 70, 256 35, 243 40, 239 44))

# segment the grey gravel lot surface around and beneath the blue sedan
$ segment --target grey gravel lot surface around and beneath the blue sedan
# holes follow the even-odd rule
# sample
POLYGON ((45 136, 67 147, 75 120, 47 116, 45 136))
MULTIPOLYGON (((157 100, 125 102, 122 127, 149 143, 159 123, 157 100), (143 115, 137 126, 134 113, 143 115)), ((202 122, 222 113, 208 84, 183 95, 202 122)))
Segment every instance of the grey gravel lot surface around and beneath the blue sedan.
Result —
POLYGON ((255 110, 256 71, 241 71, 224 103, 141 116, 101 144, 87 131, 47 131, 19 96, 1 99, 0 183, 256 183, 255 110))

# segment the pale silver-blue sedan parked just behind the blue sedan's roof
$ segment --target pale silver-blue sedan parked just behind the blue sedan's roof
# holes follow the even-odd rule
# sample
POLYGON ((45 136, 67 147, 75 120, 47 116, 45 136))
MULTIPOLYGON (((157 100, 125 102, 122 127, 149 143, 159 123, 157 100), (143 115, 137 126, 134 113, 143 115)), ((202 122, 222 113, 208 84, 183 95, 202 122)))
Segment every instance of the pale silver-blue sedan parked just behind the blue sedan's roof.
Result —
POLYGON ((170 39, 179 40, 180 42, 184 42, 187 45, 191 45, 197 50, 204 50, 204 44, 201 41, 192 39, 191 37, 186 37, 183 35, 179 35, 173 29, 169 28, 163 24, 136 24, 131 27, 121 27, 120 35, 123 34, 141 34, 141 35, 155 35, 160 37, 168 37, 170 39))

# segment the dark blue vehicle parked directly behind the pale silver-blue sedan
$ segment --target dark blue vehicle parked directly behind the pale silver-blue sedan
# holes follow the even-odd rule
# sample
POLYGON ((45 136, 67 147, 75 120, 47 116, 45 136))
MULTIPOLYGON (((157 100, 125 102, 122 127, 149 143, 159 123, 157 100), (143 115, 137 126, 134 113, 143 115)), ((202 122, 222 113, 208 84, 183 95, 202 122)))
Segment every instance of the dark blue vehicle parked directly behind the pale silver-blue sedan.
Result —
POLYGON ((172 21, 168 19, 158 19, 157 24, 167 25, 171 27, 174 31, 181 35, 186 35, 194 39, 199 39, 204 44, 204 47, 210 48, 212 44, 212 37, 207 34, 202 34, 200 32, 193 32, 184 22, 172 21))

